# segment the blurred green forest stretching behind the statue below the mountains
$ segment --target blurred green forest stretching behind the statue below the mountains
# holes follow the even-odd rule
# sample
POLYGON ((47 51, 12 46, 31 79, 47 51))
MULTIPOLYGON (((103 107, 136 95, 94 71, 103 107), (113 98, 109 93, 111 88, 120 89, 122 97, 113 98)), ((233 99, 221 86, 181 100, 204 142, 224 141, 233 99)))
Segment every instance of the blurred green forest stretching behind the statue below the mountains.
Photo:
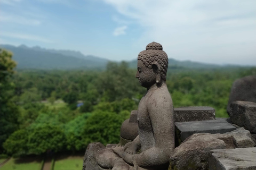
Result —
MULTIPOLYGON (((146 93, 126 62, 105 70, 16 70, 0 49, 0 154, 79 152, 91 142, 118 143, 122 122, 146 93)), ((232 83, 256 67, 188 69, 170 66, 166 84, 174 107, 211 106, 228 117, 232 83)))

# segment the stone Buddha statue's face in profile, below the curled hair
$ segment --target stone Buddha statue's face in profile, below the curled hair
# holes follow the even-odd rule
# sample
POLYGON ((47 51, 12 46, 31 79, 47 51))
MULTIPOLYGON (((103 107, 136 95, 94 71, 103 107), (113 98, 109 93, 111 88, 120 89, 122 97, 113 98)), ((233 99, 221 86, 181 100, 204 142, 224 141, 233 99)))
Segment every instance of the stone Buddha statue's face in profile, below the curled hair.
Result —
POLYGON ((142 87, 147 88, 156 83, 156 73, 154 73, 153 69, 148 69, 140 60, 138 60, 136 78, 139 79, 142 87))

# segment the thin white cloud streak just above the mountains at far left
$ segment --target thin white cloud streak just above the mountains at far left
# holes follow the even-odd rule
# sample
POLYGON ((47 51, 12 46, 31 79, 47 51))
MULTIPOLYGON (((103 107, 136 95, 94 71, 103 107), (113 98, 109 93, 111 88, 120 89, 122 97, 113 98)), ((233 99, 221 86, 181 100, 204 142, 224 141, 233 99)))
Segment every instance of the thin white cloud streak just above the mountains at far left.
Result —
POLYGON ((53 43, 51 40, 35 36, 35 35, 28 35, 25 33, 13 33, 13 32, 0 32, 0 36, 2 37, 9 37, 9 38, 17 38, 17 39, 25 39, 25 40, 33 40, 33 41, 40 41, 43 43, 53 43))

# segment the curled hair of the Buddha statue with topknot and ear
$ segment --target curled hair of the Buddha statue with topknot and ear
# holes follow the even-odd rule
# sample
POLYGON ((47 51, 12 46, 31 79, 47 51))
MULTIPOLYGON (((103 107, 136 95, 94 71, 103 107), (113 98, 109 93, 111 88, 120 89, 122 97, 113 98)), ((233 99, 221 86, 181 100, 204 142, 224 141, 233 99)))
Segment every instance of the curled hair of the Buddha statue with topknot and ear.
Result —
POLYGON ((168 56, 163 51, 161 44, 152 42, 138 55, 138 61, 143 62, 143 64, 148 67, 148 69, 154 69, 154 65, 157 65, 158 79, 156 82, 160 82, 161 79, 166 81, 166 73, 168 68, 168 56))

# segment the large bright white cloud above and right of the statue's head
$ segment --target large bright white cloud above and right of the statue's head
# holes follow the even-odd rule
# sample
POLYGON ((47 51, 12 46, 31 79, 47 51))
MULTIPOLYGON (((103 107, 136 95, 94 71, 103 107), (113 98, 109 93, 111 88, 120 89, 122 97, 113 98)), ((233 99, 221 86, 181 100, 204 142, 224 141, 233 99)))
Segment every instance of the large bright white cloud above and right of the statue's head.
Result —
POLYGON ((219 64, 256 55, 255 0, 102 1, 144 29, 134 46, 157 41, 178 60, 219 64))

